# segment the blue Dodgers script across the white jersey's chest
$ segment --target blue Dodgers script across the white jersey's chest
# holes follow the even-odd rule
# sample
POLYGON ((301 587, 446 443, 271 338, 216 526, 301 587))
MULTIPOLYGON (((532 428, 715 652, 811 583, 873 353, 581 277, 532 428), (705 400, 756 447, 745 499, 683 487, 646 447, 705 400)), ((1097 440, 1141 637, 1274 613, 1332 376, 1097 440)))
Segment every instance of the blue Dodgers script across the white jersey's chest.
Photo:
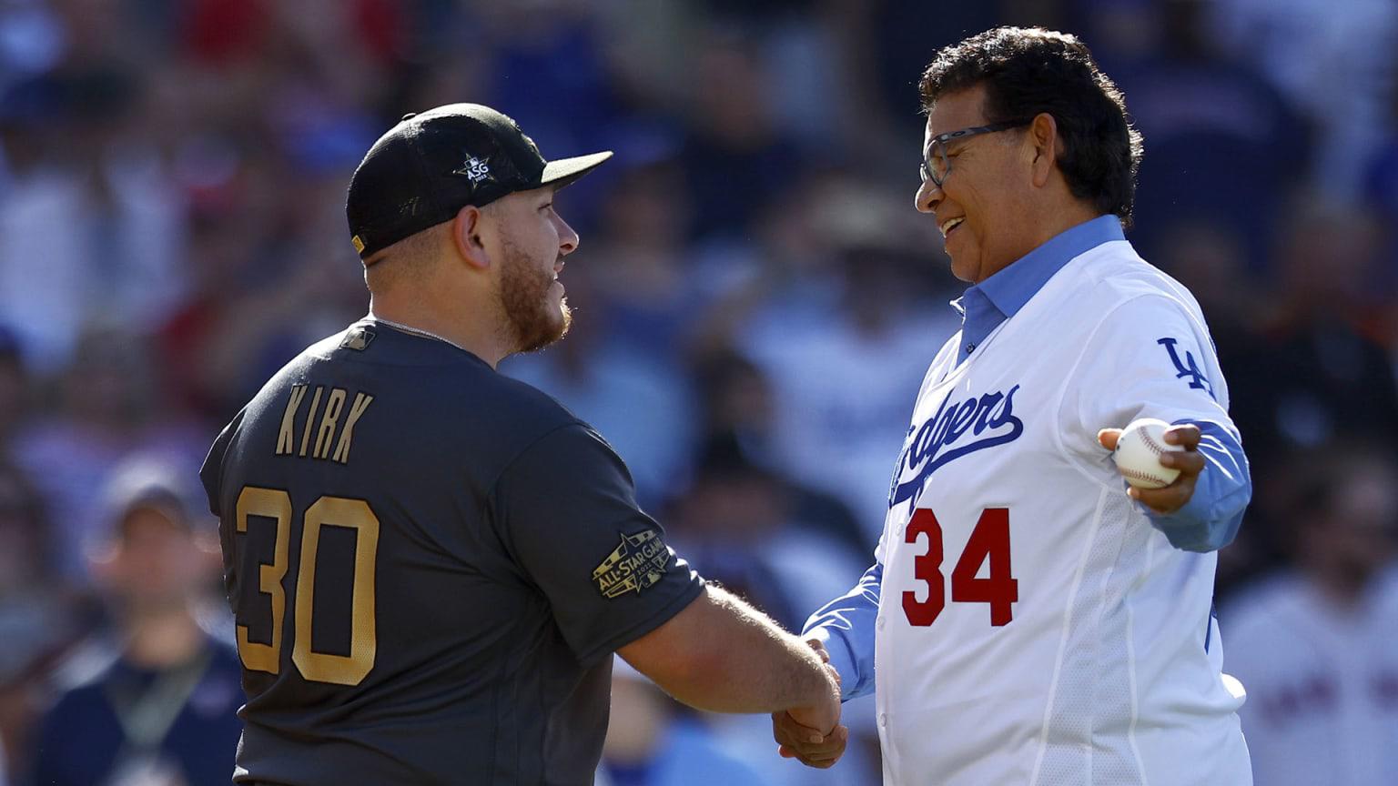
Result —
POLYGON ((942 406, 927 418, 916 435, 909 429, 910 439, 893 469, 888 506, 892 508, 905 499, 911 499, 916 506, 927 478, 937 471, 937 467, 967 453, 1019 439, 1025 432, 1025 421, 1015 417, 1016 390, 1018 385, 1011 387, 1009 393, 986 393, 979 399, 972 397, 956 404, 948 393, 942 406), (970 439, 963 441, 965 436, 970 439), (899 483, 909 474, 911 476, 907 481, 899 483))

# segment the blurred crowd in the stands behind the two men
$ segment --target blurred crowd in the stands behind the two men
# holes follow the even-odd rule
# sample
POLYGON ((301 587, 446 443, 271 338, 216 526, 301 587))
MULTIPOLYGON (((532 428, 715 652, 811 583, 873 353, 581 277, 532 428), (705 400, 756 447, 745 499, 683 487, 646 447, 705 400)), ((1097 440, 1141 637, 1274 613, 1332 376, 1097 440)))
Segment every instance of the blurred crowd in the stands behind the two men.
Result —
MULTIPOLYGON (((344 193, 489 103, 561 194, 575 326, 502 371, 628 462, 706 576, 798 628, 872 559, 958 329, 916 83, 1083 38, 1145 136, 1138 250, 1198 296, 1253 463, 1219 561, 1258 783, 1398 782, 1398 6, 1390 0, 0 0, 0 786, 226 783, 240 703, 197 466, 366 310, 344 193), (192 488, 193 487, 193 488, 192 488)), ((1082 303, 1082 308, 1096 308, 1082 303)), ((1028 362, 1028 361, 1026 361, 1028 362)), ((1124 425, 1124 424, 1121 424, 1124 425)), ((618 669, 600 783, 878 783, 618 669)))

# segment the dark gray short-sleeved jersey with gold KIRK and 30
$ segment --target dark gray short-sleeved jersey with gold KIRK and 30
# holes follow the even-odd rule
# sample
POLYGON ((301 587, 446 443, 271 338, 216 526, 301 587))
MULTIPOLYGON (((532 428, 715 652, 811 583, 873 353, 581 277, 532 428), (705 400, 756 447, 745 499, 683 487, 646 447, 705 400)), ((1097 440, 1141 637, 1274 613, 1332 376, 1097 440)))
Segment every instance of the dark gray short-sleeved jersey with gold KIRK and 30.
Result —
POLYGON ((597 432, 373 320, 278 372, 201 477, 247 692, 235 780, 591 783, 611 653, 702 592, 597 432))

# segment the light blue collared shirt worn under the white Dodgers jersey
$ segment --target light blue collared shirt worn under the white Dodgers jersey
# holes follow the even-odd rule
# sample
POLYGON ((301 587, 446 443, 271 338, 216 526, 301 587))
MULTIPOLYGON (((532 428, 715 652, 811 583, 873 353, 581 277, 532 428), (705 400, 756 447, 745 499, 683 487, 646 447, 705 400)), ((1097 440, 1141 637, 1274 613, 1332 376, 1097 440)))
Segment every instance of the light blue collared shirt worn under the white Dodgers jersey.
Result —
MULTIPOLYGON (((956 362, 965 362, 1000 323, 1019 313, 1044 284, 1074 257, 1110 241, 1124 241, 1121 221, 1100 215, 1060 232, 1048 242, 966 290, 952 305, 962 312, 956 362)), ((1151 523, 1172 545, 1186 551, 1215 551, 1233 541, 1243 510, 1253 498, 1253 480, 1243 445, 1233 431, 1213 421, 1199 427, 1199 453, 1208 467, 1199 474, 1190 501, 1169 516, 1144 508, 1151 523)), ((805 638, 818 638, 830 652, 846 699, 874 689, 874 624, 878 618, 884 566, 874 564, 849 593, 832 600, 805 622, 805 638)), ((1208 649, 1208 639, 1205 639, 1208 649)))

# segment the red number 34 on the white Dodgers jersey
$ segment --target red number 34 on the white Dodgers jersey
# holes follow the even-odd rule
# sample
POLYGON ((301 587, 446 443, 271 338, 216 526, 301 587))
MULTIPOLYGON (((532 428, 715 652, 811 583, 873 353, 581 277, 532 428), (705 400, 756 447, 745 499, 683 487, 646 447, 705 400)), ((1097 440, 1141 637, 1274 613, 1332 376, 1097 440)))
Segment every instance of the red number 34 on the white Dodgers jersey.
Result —
MULTIPOLYGON (((903 534, 905 543, 917 543, 927 536, 927 552, 913 559, 913 576, 927 585, 927 600, 917 600, 916 592, 903 593, 903 614, 907 621, 925 628, 937 621, 946 607, 946 586, 942 578, 942 526, 925 508, 913 513, 903 534)), ((1014 620, 1011 604, 1019 600, 1019 580, 1009 566, 1009 509, 987 508, 981 512, 966 541, 966 550, 952 568, 952 603, 990 604, 990 624, 1008 625, 1014 620), (980 566, 990 562, 984 579, 976 578, 980 566)))

